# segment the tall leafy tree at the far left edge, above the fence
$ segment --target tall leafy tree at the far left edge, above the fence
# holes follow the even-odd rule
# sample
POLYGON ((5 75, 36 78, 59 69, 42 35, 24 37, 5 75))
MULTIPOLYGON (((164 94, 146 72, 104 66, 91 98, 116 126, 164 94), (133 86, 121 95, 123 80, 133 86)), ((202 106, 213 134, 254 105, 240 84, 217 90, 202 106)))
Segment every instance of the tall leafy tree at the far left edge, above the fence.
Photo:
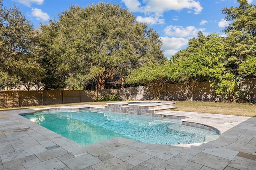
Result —
POLYGON ((44 77, 35 54, 40 32, 16 6, 2 8, 1 1, 0 7, 0 86, 24 85, 27 90, 34 86, 39 90, 44 77))

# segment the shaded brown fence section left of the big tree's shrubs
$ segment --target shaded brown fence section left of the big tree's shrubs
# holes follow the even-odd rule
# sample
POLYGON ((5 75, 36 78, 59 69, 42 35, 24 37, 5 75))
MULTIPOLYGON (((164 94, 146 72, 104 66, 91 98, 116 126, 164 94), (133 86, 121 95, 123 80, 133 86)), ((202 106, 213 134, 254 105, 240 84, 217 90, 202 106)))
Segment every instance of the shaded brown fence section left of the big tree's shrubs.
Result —
POLYGON ((96 101, 110 90, 1 91, 0 107, 20 107, 96 101))

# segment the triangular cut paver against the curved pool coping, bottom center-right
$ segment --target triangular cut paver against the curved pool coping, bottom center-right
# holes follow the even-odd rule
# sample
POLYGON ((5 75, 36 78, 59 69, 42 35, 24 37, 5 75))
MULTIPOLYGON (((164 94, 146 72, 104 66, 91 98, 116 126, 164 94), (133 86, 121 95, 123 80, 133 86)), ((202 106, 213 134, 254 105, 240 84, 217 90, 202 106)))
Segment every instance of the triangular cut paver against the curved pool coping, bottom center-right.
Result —
POLYGON ((145 152, 146 154, 150 154, 152 156, 155 156, 157 158, 168 160, 177 154, 179 154, 179 151, 170 151, 170 150, 149 150, 145 152))

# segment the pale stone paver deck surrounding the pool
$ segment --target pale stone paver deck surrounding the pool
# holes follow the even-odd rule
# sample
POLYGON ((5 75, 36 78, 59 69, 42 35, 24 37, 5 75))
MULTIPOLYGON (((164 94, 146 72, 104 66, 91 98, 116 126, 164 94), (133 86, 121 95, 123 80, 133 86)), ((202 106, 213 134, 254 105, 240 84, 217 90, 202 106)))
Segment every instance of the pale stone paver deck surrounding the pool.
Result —
POLYGON ((256 169, 256 117, 168 111, 166 115, 189 117, 185 119, 188 122, 215 127, 221 136, 181 145, 146 144, 118 137, 82 146, 18 115, 39 109, 0 111, 0 169, 256 169))

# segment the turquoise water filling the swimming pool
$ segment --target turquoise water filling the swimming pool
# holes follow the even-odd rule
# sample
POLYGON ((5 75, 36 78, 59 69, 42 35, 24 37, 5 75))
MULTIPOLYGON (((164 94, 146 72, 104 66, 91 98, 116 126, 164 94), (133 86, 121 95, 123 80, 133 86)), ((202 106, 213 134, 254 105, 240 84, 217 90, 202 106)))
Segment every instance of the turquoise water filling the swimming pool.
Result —
POLYGON ((82 145, 118 136, 151 144, 189 144, 204 142, 206 136, 218 137, 176 119, 115 112, 46 111, 24 117, 82 145))

